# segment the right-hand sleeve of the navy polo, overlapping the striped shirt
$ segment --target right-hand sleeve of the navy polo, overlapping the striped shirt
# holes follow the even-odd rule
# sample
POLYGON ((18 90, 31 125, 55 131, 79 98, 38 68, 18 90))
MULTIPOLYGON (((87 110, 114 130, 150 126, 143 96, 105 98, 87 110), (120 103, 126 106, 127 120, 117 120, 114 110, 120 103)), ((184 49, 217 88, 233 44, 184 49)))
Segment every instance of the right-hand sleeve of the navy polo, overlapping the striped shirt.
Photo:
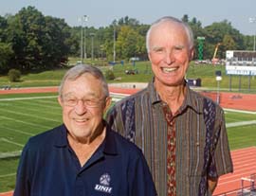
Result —
POLYGON ((155 196, 157 194, 150 169, 148 168, 142 151, 138 151, 137 158, 133 160, 133 164, 131 164, 129 168, 129 195, 155 196))

